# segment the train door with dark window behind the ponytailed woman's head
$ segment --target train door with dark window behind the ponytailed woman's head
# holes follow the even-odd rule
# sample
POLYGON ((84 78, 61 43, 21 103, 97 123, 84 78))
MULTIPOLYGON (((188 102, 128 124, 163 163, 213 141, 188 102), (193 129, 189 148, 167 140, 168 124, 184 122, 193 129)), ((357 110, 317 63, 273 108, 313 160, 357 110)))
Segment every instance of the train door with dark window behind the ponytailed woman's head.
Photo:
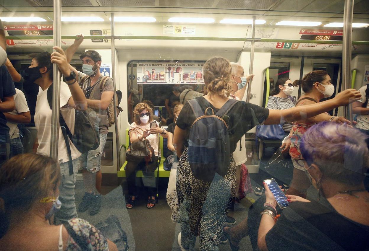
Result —
MULTIPOLYGON (((331 77, 332 85, 335 92, 329 98, 324 98, 322 101, 334 98, 341 91, 341 59, 339 58, 309 58, 305 59, 303 75, 313 70, 325 70, 331 77)), ((335 108, 328 112, 330 115, 337 116, 338 109, 335 108)))

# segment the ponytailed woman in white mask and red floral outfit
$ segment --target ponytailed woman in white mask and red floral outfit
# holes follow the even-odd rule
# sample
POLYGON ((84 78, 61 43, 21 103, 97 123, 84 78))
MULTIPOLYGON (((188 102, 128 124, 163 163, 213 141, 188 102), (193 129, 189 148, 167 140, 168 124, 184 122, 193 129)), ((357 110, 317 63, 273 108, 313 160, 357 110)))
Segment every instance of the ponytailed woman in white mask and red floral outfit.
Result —
MULTIPOLYGON (((300 99, 297 101, 296 107, 318 104, 323 98, 331 97, 335 91, 331 83, 331 77, 324 70, 309 72, 303 79, 295 80, 293 85, 302 86, 304 91, 304 94, 301 95, 300 99)), ((306 198, 306 192, 311 182, 304 171, 305 160, 300 151, 301 137, 311 126, 323 121, 350 123, 350 121, 344 117, 331 116, 327 112, 293 122, 290 140, 282 144, 282 147, 286 145, 285 151, 289 150, 294 167, 293 178, 290 189, 286 192, 287 194, 306 198)))

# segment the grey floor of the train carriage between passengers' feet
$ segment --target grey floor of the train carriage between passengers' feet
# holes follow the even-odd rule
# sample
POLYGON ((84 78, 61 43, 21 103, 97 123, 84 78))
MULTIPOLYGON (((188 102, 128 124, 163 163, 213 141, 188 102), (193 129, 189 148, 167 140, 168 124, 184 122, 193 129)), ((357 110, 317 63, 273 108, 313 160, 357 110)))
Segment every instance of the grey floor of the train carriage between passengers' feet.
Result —
MULTIPOLYGON (((286 167, 279 170, 276 175, 270 174, 268 168, 264 168, 272 155, 272 150, 266 151, 262 159, 261 170, 258 174, 250 174, 252 187, 260 186, 262 179, 275 177, 289 184, 292 179, 292 168, 286 167), (277 176, 277 177, 276 177, 277 176), (280 177, 278 177, 280 176, 280 177)), ((88 211, 78 213, 80 218, 88 220, 92 224, 104 221, 110 215, 116 215, 127 234, 130 251, 162 251, 172 250, 180 251, 177 243, 177 236, 180 232, 180 224, 173 224, 170 220, 170 208, 166 203, 166 184, 168 179, 160 180, 159 203, 152 209, 146 208, 146 196, 142 194, 133 209, 125 208, 125 201, 121 186, 102 188, 103 203, 99 214, 90 216, 88 211)), ((311 188, 310 188, 311 189, 311 188)), ((83 181, 76 181, 76 205, 82 200, 84 195, 83 181)), ((247 194, 241 203, 235 203, 234 210, 230 210, 228 215, 234 217, 237 222, 241 222, 248 215, 248 209, 251 205, 250 200, 256 200, 260 196, 254 192, 247 194), (247 199, 246 199, 247 198, 247 199), (249 199, 248 199, 249 198, 249 199)), ((229 242, 219 244, 219 249, 231 250, 229 242)), ((241 240, 239 250, 252 250, 249 237, 241 240)))

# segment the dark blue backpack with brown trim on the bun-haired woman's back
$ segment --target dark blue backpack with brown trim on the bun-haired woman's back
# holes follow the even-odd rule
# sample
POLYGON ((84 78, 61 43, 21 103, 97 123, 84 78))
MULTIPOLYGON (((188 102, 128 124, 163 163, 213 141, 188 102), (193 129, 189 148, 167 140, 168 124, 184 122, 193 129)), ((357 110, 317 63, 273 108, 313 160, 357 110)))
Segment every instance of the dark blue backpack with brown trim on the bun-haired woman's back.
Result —
POLYGON ((238 101, 228 100, 214 114, 210 107, 203 112, 197 100, 187 101, 196 116, 190 128, 188 161, 195 178, 211 182, 215 173, 222 177, 227 174, 231 151, 230 133, 224 118, 238 101), (211 115, 207 115, 208 111, 211 115))

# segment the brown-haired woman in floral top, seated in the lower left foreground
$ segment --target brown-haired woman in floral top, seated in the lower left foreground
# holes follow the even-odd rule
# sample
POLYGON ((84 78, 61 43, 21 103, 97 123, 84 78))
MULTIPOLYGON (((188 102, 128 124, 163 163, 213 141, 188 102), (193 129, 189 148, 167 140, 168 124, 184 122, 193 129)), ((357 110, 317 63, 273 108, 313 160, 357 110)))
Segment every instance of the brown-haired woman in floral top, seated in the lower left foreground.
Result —
POLYGON ((0 169, 1 250, 118 250, 86 220, 68 223, 86 241, 79 247, 63 225, 50 225, 60 209, 59 164, 39 154, 11 158, 0 169))

